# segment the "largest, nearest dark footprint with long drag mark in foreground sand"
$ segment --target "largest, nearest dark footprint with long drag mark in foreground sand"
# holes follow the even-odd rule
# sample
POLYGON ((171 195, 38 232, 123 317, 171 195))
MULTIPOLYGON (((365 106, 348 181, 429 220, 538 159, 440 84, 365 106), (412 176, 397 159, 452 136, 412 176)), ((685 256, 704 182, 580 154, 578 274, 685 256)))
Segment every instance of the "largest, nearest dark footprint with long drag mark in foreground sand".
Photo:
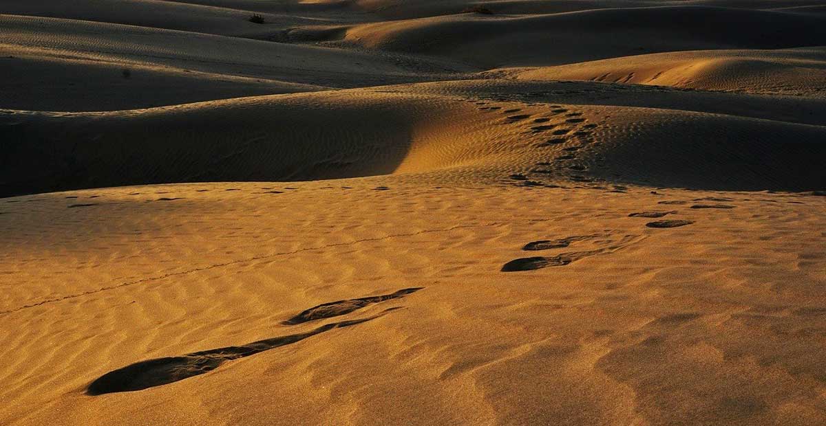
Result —
POLYGON ((227 346, 225 348, 193 352, 178 357, 155 358, 140 361, 139 363, 118 368, 98 377, 89 384, 86 393, 97 396, 113 392, 140 391, 154 386, 178 382, 189 377, 210 372, 227 361, 249 357, 250 355, 262 353, 263 351, 275 349, 287 344, 294 344, 308 337, 324 333, 325 331, 371 321, 387 314, 388 311, 390 310, 360 320, 340 321, 321 325, 306 333, 273 337, 272 339, 258 340, 240 346, 227 346))

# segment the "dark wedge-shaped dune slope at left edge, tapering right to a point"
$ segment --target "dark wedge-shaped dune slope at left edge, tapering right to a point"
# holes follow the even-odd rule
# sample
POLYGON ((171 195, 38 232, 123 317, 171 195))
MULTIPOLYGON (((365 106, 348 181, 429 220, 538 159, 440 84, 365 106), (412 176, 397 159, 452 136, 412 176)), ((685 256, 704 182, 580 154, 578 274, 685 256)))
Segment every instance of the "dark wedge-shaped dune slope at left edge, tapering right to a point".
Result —
POLYGON ((13 110, 132 110, 324 89, 133 61, 67 58, 51 49, 12 46, 0 46, 0 66, 6 72, 0 79, 2 105, 13 110))

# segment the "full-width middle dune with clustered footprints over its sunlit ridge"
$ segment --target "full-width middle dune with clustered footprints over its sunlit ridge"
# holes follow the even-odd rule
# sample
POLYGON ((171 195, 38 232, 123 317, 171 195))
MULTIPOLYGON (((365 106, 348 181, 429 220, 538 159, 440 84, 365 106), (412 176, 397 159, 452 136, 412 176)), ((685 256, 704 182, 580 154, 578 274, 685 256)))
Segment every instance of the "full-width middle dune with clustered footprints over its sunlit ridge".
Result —
MULTIPOLYGON (((478 93, 471 84, 465 89, 478 93)), ((537 162, 549 163, 539 168, 553 183, 574 174, 580 181, 717 190, 826 185, 818 166, 826 154, 820 125, 684 110, 526 107, 417 94, 415 86, 405 87, 411 93, 386 89, 106 114, 6 111, 0 132, 13 141, 17 161, 3 169, 2 193, 428 172, 463 181, 468 168, 472 180, 482 182, 525 173, 537 162)), ((726 104, 737 108, 738 102, 726 104)), ((816 105, 824 111, 822 104, 816 105)), ((814 119, 823 124, 826 117, 814 119)))

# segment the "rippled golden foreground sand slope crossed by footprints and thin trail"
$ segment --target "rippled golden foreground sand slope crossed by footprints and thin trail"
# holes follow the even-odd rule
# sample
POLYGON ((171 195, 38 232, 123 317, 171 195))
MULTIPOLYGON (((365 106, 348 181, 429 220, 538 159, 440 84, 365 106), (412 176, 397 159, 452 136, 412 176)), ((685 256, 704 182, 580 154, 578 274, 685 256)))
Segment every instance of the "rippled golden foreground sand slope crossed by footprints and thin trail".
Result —
POLYGON ((0 422, 826 421, 823 197, 436 186, 3 202, 0 422))

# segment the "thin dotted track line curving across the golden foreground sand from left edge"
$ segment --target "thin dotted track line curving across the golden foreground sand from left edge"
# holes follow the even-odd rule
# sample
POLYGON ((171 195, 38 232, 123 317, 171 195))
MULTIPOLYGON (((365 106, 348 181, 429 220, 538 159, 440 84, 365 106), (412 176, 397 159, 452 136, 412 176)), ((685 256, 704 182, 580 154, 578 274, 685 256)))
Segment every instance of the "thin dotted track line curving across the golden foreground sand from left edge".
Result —
MULTIPOLYGON (((531 219, 529 221, 523 221, 523 222, 544 222, 544 221, 548 221, 548 220, 551 220, 551 219, 531 219)), ((78 298, 78 297, 88 296, 89 294, 102 293, 102 292, 106 292, 108 290, 113 290, 113 289, 116 289, 116 288, 129 287, 129 286, 132 286, 132 285, 135 285, 135 284, 140 284, 140 283, 150 283, 152 281, 158 281, 159 279, 167 279, 169 277, 176 277, 178 275, 192 274, 192 273, 195 273, 195 272, 201 272, 201 271, 205 271, 205 270, 209 270, 209 269, 222 268, 224 266, 230 266, 230 265, 233 265, 233 264, 242 264, 244 262, 251 262, 251 261, 254 261, 254 260, 268 259, 268 258, 271 258, 271 257, 278 257, 278 256, 282 256, 282 255, 295 255, 297 253, 301 253, 301 252, 304 252, 304 251, 323 250, 323 249, 332 248, 332 247, 353 246, 355 244, 360 244, 360 243, 363 243, 363 242, 382 241, 382 240, 388 240, 388 239, 391 239, 391 238, 399 238, 399 237, 405 237, 405 236, 417 236, 417 235, 421 235, 421 234, 434 233, 434 232, 451 232, 451 231, 455 231, 457 229, 466 229, 466 228, 474 228, 474 227, 495 227, 495 226, 511 224, 511 223, 515 223, 515 222, 487 222, 487 223, 479 223, 479 224, 475 224, 475 225, 455 225, 453 227, 445 227, 445 228, 439 228, 439 229, 425 229, 423 231, 418 231, 418 232, 407 232, 407 233, 403 233, 403 234, 392 234, 392 235, 387 235, 387 236, 376 236, 376 237, 373 237, 373 238, 363 238, 361 240, 354 240, 354 241, 349 241, 349 242, 339 242, 339 243, 335 243, 335 244, 326 244, 324 246, 305 247, 305 248, 292 250, 292 251, 279 251, 277 253, 269 253, 267 255, 257 255, 257 256, 247 257, 247 258, 239 259, 239 260, 230 260, 230 261, 223 262, 223 263, 220 263, 220 264, 209 264, 207 266, 199 266, 197 268, 187 269, 187 270, 179 271, 179 272, 171 272, 169 274, 156 275, 154 277, 149 277, 149 278, 145 278, 145 279, 135 279, 133 281, 126 281, 126 282, 123 282, 123 283, 116 283, 114 285, 110 285, 110 286, 102 287, 102 288, 97 288, 95 290, 89 290, 89 291, 83 292, 83 293, 69 294, 68 296, 64 296, 64 297, 54 297, 54 298, 51 298, 51 299, 45 299, 45 300, 41 300, 40 302, 31 303, 29 305, 23 305, 21 307, 16 307, 16 308, 13 308, 13 309, 9 309, 7 311, 0 311, 0 315, 7 315, 7 314, 10 314, 10 313, 13 313, 13 312, 23 311, 23 310, 26 310, 26 309, 29 309, 29 308, 32 308, 32 307, 39 307, 39 306, 42 306, 42 305, 45 305, 45 304, 48 304, 48 303, 61 302, 61 301, 64 301, 64 300, 69 300, 69 299, 74 299, 74 298, 78 298)))

